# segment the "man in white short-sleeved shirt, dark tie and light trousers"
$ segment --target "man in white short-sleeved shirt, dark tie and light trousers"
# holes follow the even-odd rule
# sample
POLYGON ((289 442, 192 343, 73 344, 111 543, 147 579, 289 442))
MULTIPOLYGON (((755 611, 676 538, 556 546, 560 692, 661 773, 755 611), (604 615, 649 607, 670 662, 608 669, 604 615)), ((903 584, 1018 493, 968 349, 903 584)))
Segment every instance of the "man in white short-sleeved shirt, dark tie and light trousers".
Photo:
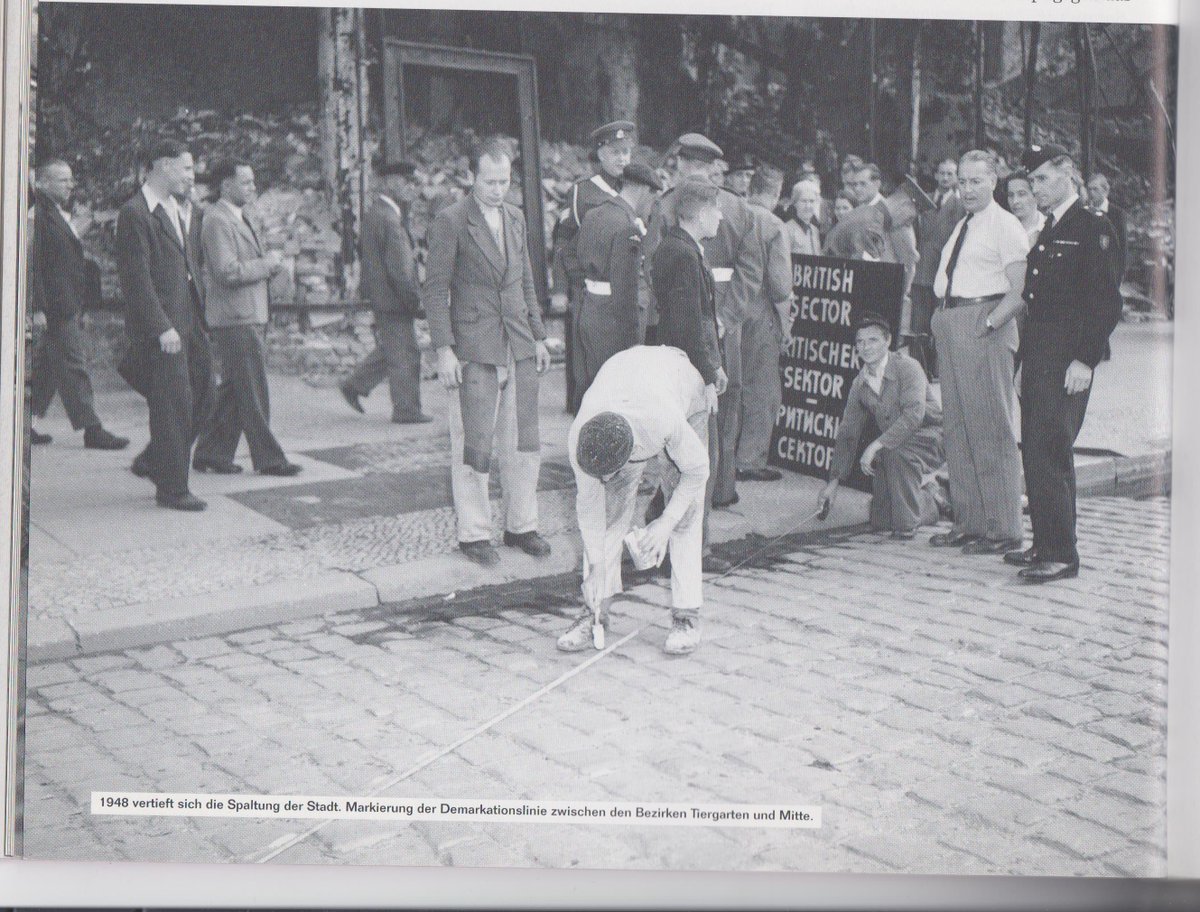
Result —
POLYGON ((1016 448, 1016 322, 1024 306, 1028 236, 995 199, 996 161, 959 162, 966 216, 937 266, 932 317, 942 378, 946 463, 954 526, 930 539, 968 554, 1020 547, 1021 457, 1016 448))

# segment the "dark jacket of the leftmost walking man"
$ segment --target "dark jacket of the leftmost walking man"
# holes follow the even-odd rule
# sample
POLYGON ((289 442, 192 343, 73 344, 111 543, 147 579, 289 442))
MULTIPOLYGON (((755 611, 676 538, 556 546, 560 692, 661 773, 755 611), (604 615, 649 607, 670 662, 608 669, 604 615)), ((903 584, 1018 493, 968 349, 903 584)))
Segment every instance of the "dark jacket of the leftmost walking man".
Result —
POLYGON ((38 193, 35 208, 30 294, 47 322, 65 323, 96 304, 95 264, 53 199, 38 193))

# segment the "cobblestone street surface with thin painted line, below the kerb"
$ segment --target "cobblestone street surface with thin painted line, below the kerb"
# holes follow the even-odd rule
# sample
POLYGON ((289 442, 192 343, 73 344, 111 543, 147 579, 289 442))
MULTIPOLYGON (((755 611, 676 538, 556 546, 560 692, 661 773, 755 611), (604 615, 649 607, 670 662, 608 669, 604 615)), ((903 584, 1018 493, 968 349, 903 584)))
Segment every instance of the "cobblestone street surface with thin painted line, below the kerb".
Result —
POLYGON ((704 642, 560 575, 29 668, 42 858, 1162 875, 1169 500, 1080 503, 1078 580, 850 529, 734 542, 704 642), (480 730, 460 748, 444 752, 480 730), (812 804, 810 830, 94 817, 92 790, 812 804))

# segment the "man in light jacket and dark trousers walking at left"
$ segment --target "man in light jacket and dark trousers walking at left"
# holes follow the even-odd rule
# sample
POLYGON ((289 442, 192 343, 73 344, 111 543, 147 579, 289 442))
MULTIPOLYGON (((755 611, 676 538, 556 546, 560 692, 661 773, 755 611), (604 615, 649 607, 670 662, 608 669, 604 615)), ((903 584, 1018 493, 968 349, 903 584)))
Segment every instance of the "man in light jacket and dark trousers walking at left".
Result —
POLYGON ((263 353, 268 286, 283 260, 278 251, 263 250, 262 226, 247 210, 256 196, 250 163, 240 158, 217 161, 209 178, 221 198, 205 212, 200 229, 204 312, 221 365, 221 386, 216 408, 196 444, 192 468, 222 475, 241 472, 233 456, 245 433, 251 464, 259 474, 295 475, 300 466, 288 462, 271 433, 263 353))

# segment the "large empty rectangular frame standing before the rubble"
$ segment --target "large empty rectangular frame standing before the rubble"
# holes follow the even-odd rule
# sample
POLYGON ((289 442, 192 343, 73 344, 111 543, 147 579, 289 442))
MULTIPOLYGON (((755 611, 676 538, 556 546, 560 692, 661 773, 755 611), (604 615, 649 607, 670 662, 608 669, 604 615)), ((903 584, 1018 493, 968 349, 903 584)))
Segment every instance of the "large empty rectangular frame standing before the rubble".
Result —
POLYGON ((408 152, 404 108, 404 67, 424 66, 460 72, 497 73, 517 80, 517 104, 521 115, 521 185, 526 227, 529 233, 529 258, 538 300, 545 307, 550 299, 546 272, 546 229, 541 202, 541 152, 538 127, 538 68, 532 56, 468 50, 434 44, 418 44, 384 38, 383 115, 384 158, 400 161, 408 152))

